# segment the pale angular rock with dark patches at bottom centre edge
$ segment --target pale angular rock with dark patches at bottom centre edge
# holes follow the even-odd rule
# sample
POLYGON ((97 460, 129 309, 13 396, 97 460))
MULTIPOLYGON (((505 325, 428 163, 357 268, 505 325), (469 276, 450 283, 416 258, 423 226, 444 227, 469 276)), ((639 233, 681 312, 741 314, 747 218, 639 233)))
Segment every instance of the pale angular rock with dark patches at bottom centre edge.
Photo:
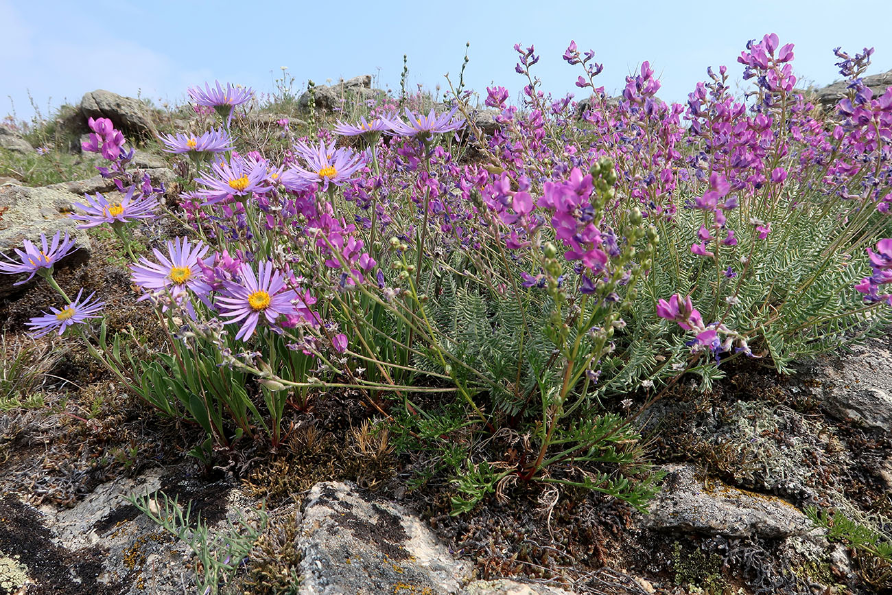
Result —
POLYGON ((301 552, 301 595, 447 595, 461 591, 470 572, 416 516, 345 483, 310 491, 301 552))

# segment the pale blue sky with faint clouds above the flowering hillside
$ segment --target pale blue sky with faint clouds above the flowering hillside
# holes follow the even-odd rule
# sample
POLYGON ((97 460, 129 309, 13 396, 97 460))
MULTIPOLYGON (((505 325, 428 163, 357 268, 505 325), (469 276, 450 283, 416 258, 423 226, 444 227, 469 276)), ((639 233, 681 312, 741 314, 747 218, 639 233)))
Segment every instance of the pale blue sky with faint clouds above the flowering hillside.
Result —
MULTIPOLYGON (((605 64, 608 92, 648 60, 660 75, 659 95, 683 101, 706 66, 727 64, 747 39, 776 32, 796 44, 800 79, 837 78, 832 49, 874 46, 872 72, 892 69, 892 1, 808 2, 216 2, 190 0, 0 0, 0 115, 33 113, 77 102, 95 88, 178 102, 186 87, 220 79, 273 90, 281 66, 303 87, 307 79, 372 74, 399 89, 402 56, 409 83, 433 88, 453 80, 470 42, 466 82, 485 95, 500 84, 516 97, 515 43, 534 44, 537 72, 556 95, 578 91, 580 74, 561 60, 574 39, 605 64), (733 7, 733 9, 731 9, 733 7)), ((581 95, 577 94, 577 98, 581 95)))

